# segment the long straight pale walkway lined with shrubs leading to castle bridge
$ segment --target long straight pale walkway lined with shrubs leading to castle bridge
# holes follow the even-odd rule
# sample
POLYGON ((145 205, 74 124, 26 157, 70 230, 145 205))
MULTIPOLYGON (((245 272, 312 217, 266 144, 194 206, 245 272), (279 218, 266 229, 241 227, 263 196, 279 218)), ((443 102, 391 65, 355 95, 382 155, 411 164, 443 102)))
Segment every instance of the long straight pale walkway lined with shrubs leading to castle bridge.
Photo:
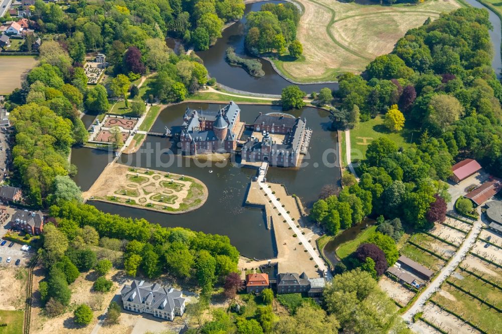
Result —
MULTIPOLYGON (((264 165, 266 165, 267 162, 262 163, 262 168, 264 165)), ((258 183, 260 184, 260 187, 263 189, 263 191, 267 194, 270 200, 272 200, 272 204, 279 210, 281 213, 281 216, 284 217, 288 225, 291 227, 293 233, 296 234, 298 240, 302 243, 302 246, 309 252, 310 256, 313 258, 314 262, 319 266, 318 269, 321 271, 324 271, 326 274, 326 278, 328 280, 331 280, 331 273, 329 272, 328 268, 324 265, 324 260, 319 257, 319 253, 314 250, 314 247, 309 243, 307 238, 302 234, 302 231, 296 227, 298 222, 295 222, 291 219, 291 216, 287 213, 287 211, 282 207, 281 202, 277 200, 277 197, 275 194, 272 194, 272 190, 269 188, 267 183, 264 182, 265 179, 265 173, 260 173, 258 176, 258 183)))

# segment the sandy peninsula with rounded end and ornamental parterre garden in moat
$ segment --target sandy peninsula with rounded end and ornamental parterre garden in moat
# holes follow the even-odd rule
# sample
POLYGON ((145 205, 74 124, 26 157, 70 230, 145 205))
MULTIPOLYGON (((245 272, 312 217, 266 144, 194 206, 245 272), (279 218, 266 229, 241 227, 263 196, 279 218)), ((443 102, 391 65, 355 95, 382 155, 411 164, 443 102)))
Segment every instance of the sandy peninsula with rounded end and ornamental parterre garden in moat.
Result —
POLYGON ((204 205, 208 191, 204 183, 195 178, 111 162, 82 197, 84 200, 181 214, 204 205))

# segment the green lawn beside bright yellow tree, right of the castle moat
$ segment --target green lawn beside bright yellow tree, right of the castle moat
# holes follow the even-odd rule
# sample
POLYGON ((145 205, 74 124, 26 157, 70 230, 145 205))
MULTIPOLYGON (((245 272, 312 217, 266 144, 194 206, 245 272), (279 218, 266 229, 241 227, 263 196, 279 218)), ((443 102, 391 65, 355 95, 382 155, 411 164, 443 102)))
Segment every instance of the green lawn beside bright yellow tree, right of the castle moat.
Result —
POLYGON ((352 162, 366 158, 367 145, 372 140, 386 136, 398 145, 398 147, 410 146, 410 141, 418 140, 418 130, 404 128, 400 132, 391 132, 384 124, 384 116, 378 115, 365 122, 359 122, 350 130, 350 156, 352 162))

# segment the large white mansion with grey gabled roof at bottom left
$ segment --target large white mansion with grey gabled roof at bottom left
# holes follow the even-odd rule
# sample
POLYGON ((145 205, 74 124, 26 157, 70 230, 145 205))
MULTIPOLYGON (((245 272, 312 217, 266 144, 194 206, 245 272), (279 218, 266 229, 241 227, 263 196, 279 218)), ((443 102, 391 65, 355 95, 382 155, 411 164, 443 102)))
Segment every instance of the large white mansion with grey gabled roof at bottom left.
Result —
POLYGON ((123 308, 133 312, 149 313, 171 321, 185 312, 183 292, 158 283, 134 280, 131 285, 124 285, 120 294, 123 308))

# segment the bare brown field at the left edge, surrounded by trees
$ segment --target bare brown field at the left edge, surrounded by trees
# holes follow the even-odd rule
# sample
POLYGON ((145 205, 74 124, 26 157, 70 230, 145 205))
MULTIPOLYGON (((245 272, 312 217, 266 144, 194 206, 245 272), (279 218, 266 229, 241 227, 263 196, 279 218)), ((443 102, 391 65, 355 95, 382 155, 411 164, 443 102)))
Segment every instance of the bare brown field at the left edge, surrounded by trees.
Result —
POLYGON ((33 56, 2 56, 0 57, 0 94, 10 94, 14 89, 21 88, 25 78, 37 61, 33 56))

